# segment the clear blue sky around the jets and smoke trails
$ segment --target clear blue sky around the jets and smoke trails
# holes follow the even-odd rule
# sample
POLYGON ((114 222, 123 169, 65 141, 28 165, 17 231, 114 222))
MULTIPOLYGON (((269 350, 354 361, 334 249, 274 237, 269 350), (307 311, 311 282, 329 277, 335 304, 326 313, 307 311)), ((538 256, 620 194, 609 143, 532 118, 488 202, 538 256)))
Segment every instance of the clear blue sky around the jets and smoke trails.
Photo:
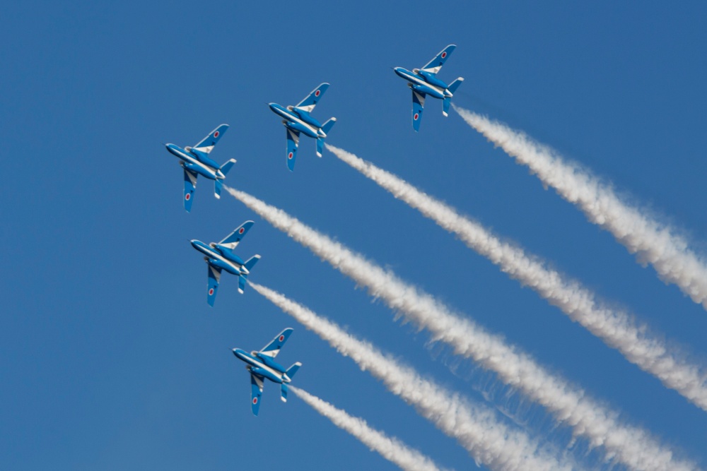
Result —
MULTIPOLYGON (((281 403, 271 383, 252 416, 230 349, 287 326, 279 358, 303 362, 296 386, 440 465, 474 466, 350 359, 253 290, 239 295, 235 278, 206 304, 206 266, 187 239, 218 241, 254 219, 239 246, 262 255, 252 280, 483 400, 478 371, 452 375, 426 333, 238 201, 214 199, 210 182, 185 213, 162 143, 193 145, 222 122, 211 156, 238 159, 228 184, 390 266, 707 463, 705 412, 330 153, 317 159, 313 141, 288 172, 266 105, 331 83, 315 110, 338 119, 329 143, 547 258, 704 362, 707 312, 437 100, 414 133, 390 68, 457 44, 440 73, 466 79, 457 105, 585 163, 704 253, 705 4, 6 2, 0 17, 1 469, 395 469, 300 400, 281 403)), ((525 415, 542 429, 542 410, 525 415)))

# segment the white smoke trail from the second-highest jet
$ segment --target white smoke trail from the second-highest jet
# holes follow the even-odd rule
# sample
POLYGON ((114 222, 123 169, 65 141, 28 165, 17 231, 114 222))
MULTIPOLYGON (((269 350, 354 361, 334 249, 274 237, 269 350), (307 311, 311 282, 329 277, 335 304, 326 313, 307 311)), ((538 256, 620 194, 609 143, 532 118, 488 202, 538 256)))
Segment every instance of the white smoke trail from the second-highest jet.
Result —
POLYGON ((464 241, 470 249, 489 258, 511 278, 531 287, 550 304, 558 306, 573 321, 616 348, 629 362, 653 374, 695 405, 707 410, 707 375, 700 366, 690 364, 678 347, 668 346, 637 324, 624 311, 602 306, 595 295, 574 280, 568 280, 547 267, 539 257, 527 255, 518 246, 501 242, 489 229, 457 213, 449 205, 419 191, 403 179, 375 167, 356 155, 327 144, 327 149, 366 177, 411 207, 431 218, 464 241))

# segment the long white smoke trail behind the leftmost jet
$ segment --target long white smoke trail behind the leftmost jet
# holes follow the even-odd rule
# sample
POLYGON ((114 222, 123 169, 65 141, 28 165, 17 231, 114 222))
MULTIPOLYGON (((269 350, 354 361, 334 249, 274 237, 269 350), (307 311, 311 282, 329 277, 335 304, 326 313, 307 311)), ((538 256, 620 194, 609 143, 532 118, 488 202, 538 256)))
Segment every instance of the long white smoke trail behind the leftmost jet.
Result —
POLYGON ((581 388, 554 376, 520 348, 506 345, 500 336, 486 332, 469 318, 452 314, 430 294, 419 291, 283 210, 243 191, 225 188, 271 225, 308 247, 358 285, 367 287, 373 297, 382 299, 408 321, 429 330, 435 340, 452 346, 455 354, 470 357, 495 371, 501 381, 546 407, 557 420, 572 427, 576 435, 589 439, 592 446, 603 445, 607 459, 616 458, 633 470, 696 469, 693 463, 674 457, 669 448, 647 431, 622 424, 617 420, 617 412, 600 405, 581 388))

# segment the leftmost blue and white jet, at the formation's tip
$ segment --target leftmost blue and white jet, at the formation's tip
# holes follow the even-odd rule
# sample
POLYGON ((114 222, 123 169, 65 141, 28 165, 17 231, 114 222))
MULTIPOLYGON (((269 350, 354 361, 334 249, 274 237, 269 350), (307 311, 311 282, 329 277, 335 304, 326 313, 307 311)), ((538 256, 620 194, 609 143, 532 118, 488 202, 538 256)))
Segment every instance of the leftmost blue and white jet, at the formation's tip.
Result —
POLYGON ((184 169, 184 208, 187 213, 192 209, 192 199, 194 199, 194 190, 197 188, 197 177, 199 175, 214 180, 214 196, 221 198, 223 179, 226 178, 230 167, 235 164, 235 159, 228 160, 228 162, 219 166, 214 160, 209 158, 209 153, 214 150, 214 145, 227 130, 228 124, 221 124, 194 147, 187 146, 182 149, 179 145, 165 144, 170 153, 182 160, 180 163, 184 169))

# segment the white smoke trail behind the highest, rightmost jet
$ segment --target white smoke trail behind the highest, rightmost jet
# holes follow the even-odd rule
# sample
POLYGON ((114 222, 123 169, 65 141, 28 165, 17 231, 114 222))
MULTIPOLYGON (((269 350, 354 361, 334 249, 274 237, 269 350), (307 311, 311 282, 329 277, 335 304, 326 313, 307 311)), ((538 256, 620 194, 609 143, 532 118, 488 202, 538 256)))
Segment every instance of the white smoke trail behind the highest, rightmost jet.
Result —
POLYGON ((467 109, 454 109, 469 126, 527 165, 544 185, 578 205, 591 222, 611 232, 639 262, 653 265, 663 281, 674 283, 707 309, 707 261, 691 251, 674 228, 621 201, 610 184, 525 133, 467 109))

